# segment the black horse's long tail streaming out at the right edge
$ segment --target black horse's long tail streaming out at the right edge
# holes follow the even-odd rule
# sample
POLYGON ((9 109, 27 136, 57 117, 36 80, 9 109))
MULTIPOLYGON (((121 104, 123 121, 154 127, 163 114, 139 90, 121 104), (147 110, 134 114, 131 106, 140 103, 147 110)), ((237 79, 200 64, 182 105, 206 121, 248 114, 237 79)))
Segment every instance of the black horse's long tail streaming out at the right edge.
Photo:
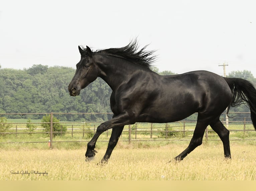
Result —
POLYGON ((228 106, 227 113, 230 106, 237 106, 246 102, 251 111, 252 124, 256 130, 256 89, 251 82, 240 78, 224 78, 228 83, 231 92, 232 100, 228 106))

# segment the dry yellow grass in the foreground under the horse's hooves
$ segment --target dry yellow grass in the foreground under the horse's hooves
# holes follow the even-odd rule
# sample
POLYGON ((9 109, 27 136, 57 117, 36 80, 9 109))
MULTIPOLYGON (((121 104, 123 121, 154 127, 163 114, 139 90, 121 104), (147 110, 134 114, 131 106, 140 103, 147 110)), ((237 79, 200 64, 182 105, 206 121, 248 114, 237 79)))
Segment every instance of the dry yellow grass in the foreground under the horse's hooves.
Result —
POLYGON ((231 142, 225 161, 220 141, 203 144, 183 161, 170 162, 188 142, 148 147, 120 142, 107 165, 85 162, 83 149, 1 149, 0 180, 256 180, 256 143, 231 142))

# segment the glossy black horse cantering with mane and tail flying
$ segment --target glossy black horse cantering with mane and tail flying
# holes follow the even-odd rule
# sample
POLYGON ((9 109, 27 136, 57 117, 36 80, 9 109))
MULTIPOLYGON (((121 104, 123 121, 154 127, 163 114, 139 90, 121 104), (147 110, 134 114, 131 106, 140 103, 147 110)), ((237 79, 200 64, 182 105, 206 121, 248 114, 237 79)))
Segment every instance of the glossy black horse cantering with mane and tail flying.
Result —
POLYGON ((79 48, 81 60, 69 84, 71 96, 101 77, 112 89, 110 106, 113 118, 100 124, 87 144, 86 158, 93 159, 98 137, 112 128, 106 154, 107 162, 123 131, 124 125, 135 122, 174 122, 198 112, 197 124, 188 147, 175 157, 182 160, 202 144, 208 125, 219 135, 224 146, 224 156, 231 159, 229 130, 220 121, 228 107, 248 103, 252 123, 256 129, 256 90, 243 79, 224 78, 207 71, 194 71, 180 75, 160 76, 150 70, 155 61, 154 51, 138 49, 136 40, 122 48, 92 52, 79 48))

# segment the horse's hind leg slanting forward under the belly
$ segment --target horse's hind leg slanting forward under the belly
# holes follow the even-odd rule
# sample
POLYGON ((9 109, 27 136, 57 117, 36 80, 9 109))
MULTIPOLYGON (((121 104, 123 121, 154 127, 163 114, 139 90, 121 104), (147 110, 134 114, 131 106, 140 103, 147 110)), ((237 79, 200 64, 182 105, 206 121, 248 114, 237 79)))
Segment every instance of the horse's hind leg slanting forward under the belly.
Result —
POLYGON ((198 117, 197 125, 188 147, 178 156, 176 156, 174 158, 175 160, 183 160, 183 158, 185 158, 191 151, 193 151, 196 147, 202 144, 205 129, 208 125, 209 119, 200 119, 200 117, 198 117))

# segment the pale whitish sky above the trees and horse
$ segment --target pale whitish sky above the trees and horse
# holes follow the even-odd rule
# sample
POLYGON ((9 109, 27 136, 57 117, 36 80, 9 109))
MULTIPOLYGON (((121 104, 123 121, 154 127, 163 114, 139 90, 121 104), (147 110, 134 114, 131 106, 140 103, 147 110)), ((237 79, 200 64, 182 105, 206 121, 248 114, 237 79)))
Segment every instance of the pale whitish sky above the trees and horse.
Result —
POLYGON ((256 77, 255 1, 72 0, 0 2, 0 65, 75 68, 78 45, 156 50, 159 71, 249 70, 256 77))

